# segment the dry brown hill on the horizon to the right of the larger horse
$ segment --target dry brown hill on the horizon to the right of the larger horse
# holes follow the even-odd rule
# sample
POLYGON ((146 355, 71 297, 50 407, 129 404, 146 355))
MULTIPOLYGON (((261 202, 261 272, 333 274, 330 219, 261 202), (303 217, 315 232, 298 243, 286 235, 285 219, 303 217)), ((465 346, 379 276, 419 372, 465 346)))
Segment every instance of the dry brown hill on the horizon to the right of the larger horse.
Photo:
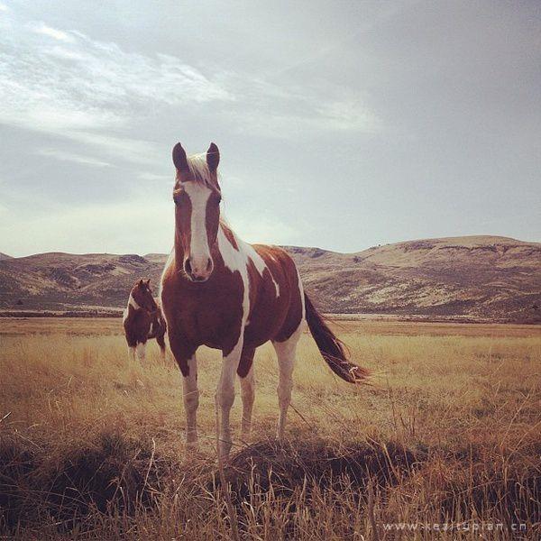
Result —
POLYGON ((289 250, 327 312, 541 321, 541 243, 467 236, 352 254, 289 250))

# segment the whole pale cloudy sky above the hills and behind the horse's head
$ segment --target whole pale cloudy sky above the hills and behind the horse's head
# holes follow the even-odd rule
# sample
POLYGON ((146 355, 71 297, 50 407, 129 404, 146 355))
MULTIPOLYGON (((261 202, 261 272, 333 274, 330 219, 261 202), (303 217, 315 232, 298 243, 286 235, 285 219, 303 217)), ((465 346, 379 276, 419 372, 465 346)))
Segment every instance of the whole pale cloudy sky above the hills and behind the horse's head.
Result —
POLYGON ((169 252, 178 141, 248 242, 541 241, 541 3, 0 0, 0 252, 169 252))

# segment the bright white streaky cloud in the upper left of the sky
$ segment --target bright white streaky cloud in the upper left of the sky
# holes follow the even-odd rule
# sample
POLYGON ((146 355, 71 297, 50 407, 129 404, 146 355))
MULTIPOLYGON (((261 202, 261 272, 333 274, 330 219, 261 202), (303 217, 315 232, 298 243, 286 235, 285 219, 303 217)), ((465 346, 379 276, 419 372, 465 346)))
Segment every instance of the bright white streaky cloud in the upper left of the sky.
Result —
POLYGON ((133 119, 234 99, 176 57, 126 52, 114 42, 16 16, 0 20, 0 95, 0 124, 104 146, 124 158, 129 147, 128 159, 142 146, 123 134, 133 119))

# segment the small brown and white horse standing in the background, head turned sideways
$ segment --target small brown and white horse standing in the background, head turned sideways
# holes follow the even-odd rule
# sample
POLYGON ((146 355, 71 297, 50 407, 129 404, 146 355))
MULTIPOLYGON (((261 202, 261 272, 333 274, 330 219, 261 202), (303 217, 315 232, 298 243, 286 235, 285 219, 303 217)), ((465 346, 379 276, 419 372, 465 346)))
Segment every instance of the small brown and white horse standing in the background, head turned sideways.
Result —
POLYGON ((150 278, 138 280, 133 285, 128 306, 124 310, 123 326, 131 359, 135 360, 137 352, 139 360, 144 361, 146 343, 151 338, 156 338, 161 358, 165 359, 167 324, 161 315, 160 306, 152 297, 150 278))

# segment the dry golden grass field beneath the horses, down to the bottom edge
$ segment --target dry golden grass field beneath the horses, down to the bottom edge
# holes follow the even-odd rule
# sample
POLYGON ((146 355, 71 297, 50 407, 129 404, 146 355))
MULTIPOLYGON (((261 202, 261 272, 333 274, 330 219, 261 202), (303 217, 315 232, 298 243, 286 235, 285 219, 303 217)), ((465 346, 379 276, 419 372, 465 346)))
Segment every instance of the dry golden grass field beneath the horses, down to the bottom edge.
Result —
POLYGON ((252 442, 215 465, 217 352, 199 359, 200 446, 184 460, 179 370, 128 359, 120 319, 0 319, 0 536, 20 539, 535 539, 541 329, 341 321, 371 386, 303 336, 288 439, 271 347, 252 442))

